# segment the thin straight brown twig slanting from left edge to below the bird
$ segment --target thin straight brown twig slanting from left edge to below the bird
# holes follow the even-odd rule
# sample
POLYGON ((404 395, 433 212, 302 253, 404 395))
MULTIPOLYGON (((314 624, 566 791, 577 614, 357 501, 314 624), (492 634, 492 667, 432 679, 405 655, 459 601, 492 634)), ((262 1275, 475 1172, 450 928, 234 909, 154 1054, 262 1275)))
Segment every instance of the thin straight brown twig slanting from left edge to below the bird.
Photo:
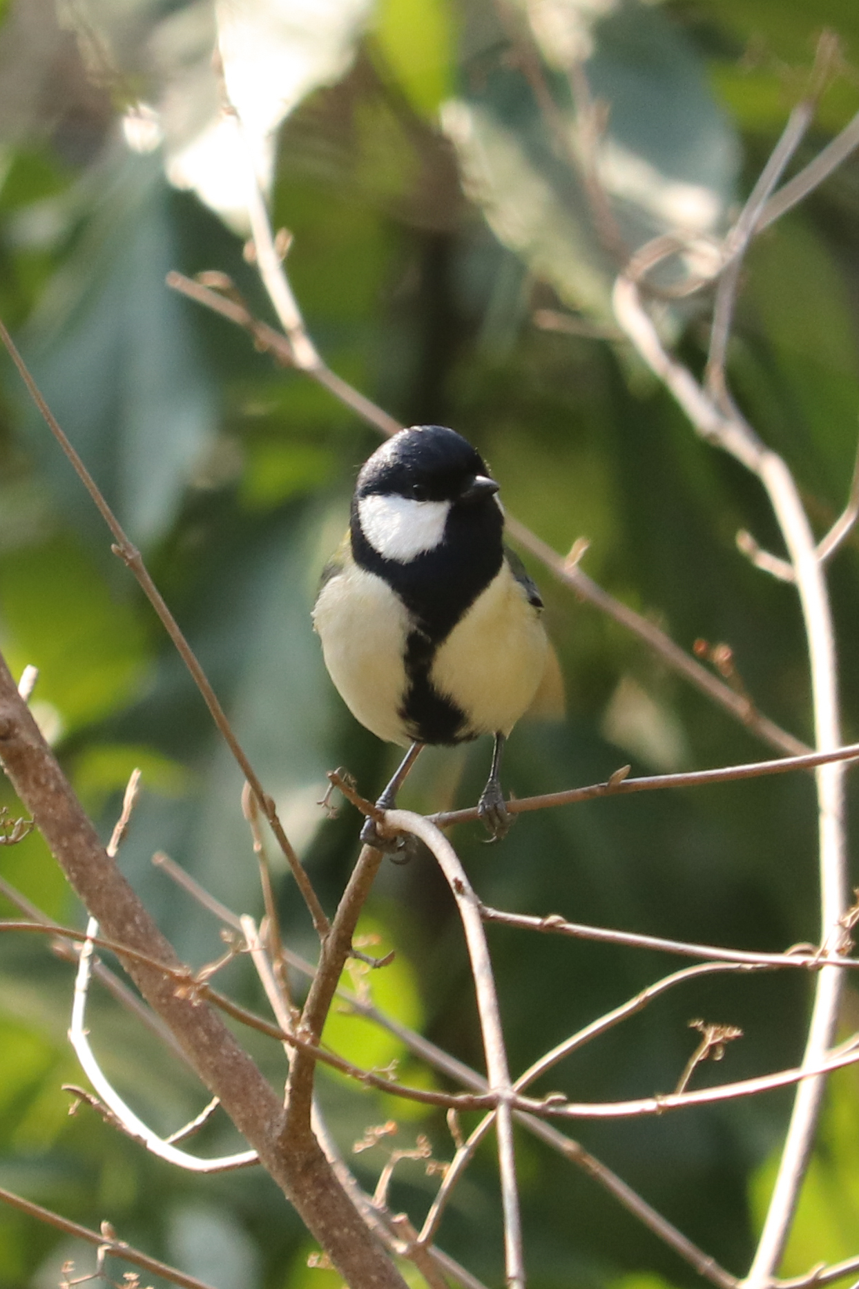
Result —
POLYGON ((194 684, 197 686, 203 699, 203 703, 209 708, 212 721, 218 726, 229 750, 238 762, 241 771, 245 775, 245 779, 250 782, 254 795, 256 797, 260 808, 265 815, 265 819, 268 820, 272 831, 274 833, 274 837, 277 838, 277 843, 281 847, 283 856, 286 857, 290 865, 290 869, 292 870, 292 875, 299 887, 299 891, 301 892, 304 902, 307 904, 310 916, 313 918, 313 926, 316 927, 317 933, 319 936, 325 935, 328 927, 328 920, 310 884, 310 880, 307 873, 304 871, 301 861, 295 853, 292 844, 283 830, 283 825, 281 824, 281 820, 278 819, 277 815, 274 800, 263 788, 260 780, 258 779, 254 771, 254 767, 245 755, 245 751, 241 744, 238 742, 238 739, 236 737, 236 733, 233 732, 233 728, 229 721, 227 719, 227 714, 224 713, 224 709, 222 708, 218 696, 209 682, 209 678, 206 677, 202 666, 200 665, 196 654, 193 652, 184 634, 179 629, 179 624, 176 623, 175 617, 167 608, 167 605, 162 598, 161 592, 152 581, 152 577, 149 576, 149 572, 143 562, 140 552, 137 549, 137 547, 131 544, 131 541, 126 536, 125 530, 122 528, 120 521, 116 518, 109 505, 104 500, 104 496, 102 495, 98 485, 95 483, 95 480, 84 465, 84 461, 81 460, 76 450, 72 447, 70 440, 61 428, 57 418, 54 416, 50 407, 45 402, 41 391, 39 389, 36 382, 30 374, 30 370, 27 369, 23 358, 18 353, 18 349, 15 348, 15 344, 3 321, 0 321, 0 340, 3 340, 4 345, 6 347, 9 357, 18 369, 18 374, 23 380, 24 385, 27 387, 30 397, 32 398, 36 407, 41 412, 45 424, 48 425, 52 434, 59 443, 66 458, 72 465, 75 473, 77 474, 81 483, 89 492, 93 503, 95 504, 95 508, 98 509, 99 514, 102 516, 108 528, 113 534, 115 538, 115 545, 112 547, 113 553, 118 556, 118 558, 126 565, 126 567, 135 576, 140 589, 143 590, 144 596, 155 608, 156 614, 161 620, 161 624, 167 632, 167 635, 173 641, 183 663, 188 668, 194 681, 194 684))

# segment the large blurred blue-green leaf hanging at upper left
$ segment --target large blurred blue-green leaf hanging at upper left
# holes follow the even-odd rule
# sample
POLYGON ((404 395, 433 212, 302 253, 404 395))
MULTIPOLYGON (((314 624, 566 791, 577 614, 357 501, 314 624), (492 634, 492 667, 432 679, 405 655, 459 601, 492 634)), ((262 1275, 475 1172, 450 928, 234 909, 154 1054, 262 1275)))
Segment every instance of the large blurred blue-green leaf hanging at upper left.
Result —
MULTIPOLYGON (((97 177, 93 177, 97 182, 97 177)), ((211 443, 214 396, 188 305, 165 285, 179 251, 175 209, 152 157, 112 157, 73 254, 46 290, 24 345, 41 391, 120 522, 161 536, 211 443)), ((48 429, 31 436, 70 513, 100 525, 48 429)))

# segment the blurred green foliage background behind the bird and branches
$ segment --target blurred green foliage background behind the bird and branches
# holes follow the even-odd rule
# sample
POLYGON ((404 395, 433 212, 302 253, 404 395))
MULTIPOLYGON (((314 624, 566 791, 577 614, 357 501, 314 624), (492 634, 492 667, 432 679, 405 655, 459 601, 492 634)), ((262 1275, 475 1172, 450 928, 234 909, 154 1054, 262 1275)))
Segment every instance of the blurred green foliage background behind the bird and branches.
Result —
MULTIPOLYGON (((377 436, 250 338, 179 298, 165 275, 218 269, 274 321, 243 254, 249 157, 292 233, 287 267, 331 367, 402 423, 470 438, 507 509, 684 648, 728 643, 757 706, 811 739, 805 641, 793 590, 756 571, 738 528, 780 552, 757 483, 698 442, 619 342, 613 275, 674 227, 719 235, 802 94, 822 28, 841 41, 805 164, 859 108, 853 0, 5 0, 0 5, 0 316, 137 541, 227 708, 328 911, 357 853, 358 816, 319 808, 346 766, 366 795, 395 751, 359 728, 322 666, 309 611, 377 436), (216 23, 236 147, 212 63, 216 23), (534 80, 533 66, 540 68, 534 80), (529 75, 531 71, 531 75, 529 75), (538 102, 542 86, 546 102, 538 102), (587 99, 601 129, 582 150, 587 99), (578 133, 577 133, 578 131, 578 133), (582 162, 591 177, 589 197, 582 162)), ((859 160, 761 236, 743 275, 730 347, 737 398, 796 473, 819 532, 847 495, 859 425, 859 160)), ((665 307, 693 370, 708 300, 665 307)), ((845 740, 859 737, 859 561, 850 539, 831 588, 845 740)), ((560 656, 567 713, 523 722, 506 757, 518 795, 770 754, 634 637, 528 561, 560 656)), ((241 777, 179 659, 8 360, 0 363, 0 643, 15 674, 40 669, 33 709, 103 835, 134 766, 143 795, 121 864, 178 951, 222 950, 215 920, 152 866, 166 851, 214 896, 259 915, 241 777)), ((489 746, 434 749, 403 804, 469 804, 489 746)), ((0 788, 0 794, 8 789, 0 788)), ((9 795, 0 803, 14 806, 9 795)), ((500 846, 455 842, 486 902, 523 913, 738 947, 818 936, 815 806, 801 776, 578 804, 523 817, 500 846)), ((314 955, 304 907, 277 866, 291 949, 314 955)), ((49 916, 81 924, 39 838, 0 851, 0 874, 49 916)), ((0 913, 13 906, 0 900, 0 913)), ((482 1067, 457 918, 429 857, 386 865, 362 923, 392 967, 353 984, 482 1067)), ((491 929, 514 1074, 676 960, 491 929)), ((27 936, 0 940, 0 1185, 122 1239, 218 1289, 328 1289, 308 1268, 297 1218, 260 1170, 180 1174, 106 1127, 70 1119, 62 1083, 71 968, 27 936)), ((223 989, 264 1008, 246 964, 223 989)), ((296 989, 301 989, 296 978, 296 989)), ((744 1038, 697 1085, 793 1065, 810 982, 800 973, 713 977, 654 1003, 538 1084, 578 1100, 667 1092, 697 1043, 689 1021, 744 1038)), ((859 1025, 859 999, 845 1002, 859 1025)), ((170 1132, 205 1094, 109 1000, 93 1042, 117 1087, 170 1132)), ((348 1016, 326 1038, 363 1066, 399 1060, 348 1016)), ((281 1054, 249 1045, 273 1080, 281 1054)), ((437 1085, 443 1085, 437 1083, 437 1085)), ((395 1119, 389 1147, 442 1114, 357 1092, 321 1096, 349 1154, 395 1119)), ((791 1094, 656 1121, 581 1125, 580 1139, 688 1236, 743 1274, 791 1094)), ((466 1127, 470 1127, 466 1123, 466 1127)), ((534 1286, 692 1284, 693 1272, 591 1181, 519 1142, 534 1286)), ((218 1119, 201 1150, 234 1148, 218 1119)), ((375 1185, 385 1147, 354 1160, 375 1185)), ((394 1210, 421 1221, 438 1185, 398 1167, 394 1210)), ((859 1080, 832 1083, 783 1271, 859 1252, 859 1080)), ((502 1281, 500 1204, 487 1143, 439 1243, 502 1281)), ((91 1254, 0 1210, 0 1286, 53 1289, 91 1254)), ((118 1279, 124 1267, 117 1267, 118 1279)), ((148 1280, 146 1281, 148 1283, 148 1280)), ((156 1281, 157 1283, 157 1281, 156 1281)))

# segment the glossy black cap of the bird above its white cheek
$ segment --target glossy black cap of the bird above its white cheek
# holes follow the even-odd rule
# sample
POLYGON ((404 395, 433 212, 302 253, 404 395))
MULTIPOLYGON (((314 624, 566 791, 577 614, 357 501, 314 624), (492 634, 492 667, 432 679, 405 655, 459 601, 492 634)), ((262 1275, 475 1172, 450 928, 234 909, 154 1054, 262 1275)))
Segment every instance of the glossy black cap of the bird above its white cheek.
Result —
POLYGON ((364 463, 355 496, 469 503, 497 490, 486 461, 461 434, 444 425, 412 425, 401 429, 364 463))

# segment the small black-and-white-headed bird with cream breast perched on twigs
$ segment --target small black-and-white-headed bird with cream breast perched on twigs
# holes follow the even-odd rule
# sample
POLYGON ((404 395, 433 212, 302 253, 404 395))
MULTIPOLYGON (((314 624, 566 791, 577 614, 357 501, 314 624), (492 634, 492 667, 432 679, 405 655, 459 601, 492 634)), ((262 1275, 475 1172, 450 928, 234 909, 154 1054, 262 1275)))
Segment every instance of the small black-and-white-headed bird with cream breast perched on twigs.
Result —
MULTIPOLYGON (((510 825, 504 742, 546 668, 540 592, 504 545, 498 485, 443 425, 402 429, 364 461, 349 531, 322 575, 313 624, 352 714, 410 750, 379 798, 397 791, 424 744, 495 736, 479 802, 495 838, 510 825)), ((380 844, 368 820, 363 840, 380 844)))

